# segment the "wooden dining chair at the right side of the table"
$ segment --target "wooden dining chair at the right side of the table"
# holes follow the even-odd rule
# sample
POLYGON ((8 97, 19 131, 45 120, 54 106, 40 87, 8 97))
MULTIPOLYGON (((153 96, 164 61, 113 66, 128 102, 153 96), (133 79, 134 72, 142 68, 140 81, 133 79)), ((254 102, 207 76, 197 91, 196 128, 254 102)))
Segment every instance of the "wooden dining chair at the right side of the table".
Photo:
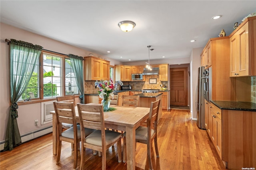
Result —
MULTIPOLYGON (((150 170, 153 170, 152 165, 152 142, 154 140, 156 157, 159 158, 158 146, 157 146, 157 121, 158 121, 158 111, 159 111, 160 99, 155 102, 151 102, 149 117, 147 119, 147 127, 140 126, 136 129, 135 139, 136 142, 147 144, 147 154, 150 170), (148 135, 151 134, 151 135, 148 135)), ((123 162, 126 162, 126 133, 124 136, 124 152, 123 152, 123 162)))

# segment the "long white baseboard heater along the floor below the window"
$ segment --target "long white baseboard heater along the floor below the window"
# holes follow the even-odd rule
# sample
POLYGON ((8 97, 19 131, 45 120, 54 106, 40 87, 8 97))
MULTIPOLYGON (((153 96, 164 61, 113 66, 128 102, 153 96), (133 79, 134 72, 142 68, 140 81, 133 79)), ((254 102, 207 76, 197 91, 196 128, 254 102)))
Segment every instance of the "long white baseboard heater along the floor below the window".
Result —
MULTIPOLYGON (((33 132, 22 134, 20 136, 21 137, 21 142, 22 143, 28 142, 30 140, 33 140, 35 138, 38 138, 40 136, 43 136, 43 135, 51 133, 51 132, 52 132, 52 125, 49 126, 49 127, 45 127, 45 128, 41 128, 41 129, 35 130, 33 132)), ((0 142, 0 150, 1 151, 4 150, 4 143, 5 143, 5 140, 0 142)))

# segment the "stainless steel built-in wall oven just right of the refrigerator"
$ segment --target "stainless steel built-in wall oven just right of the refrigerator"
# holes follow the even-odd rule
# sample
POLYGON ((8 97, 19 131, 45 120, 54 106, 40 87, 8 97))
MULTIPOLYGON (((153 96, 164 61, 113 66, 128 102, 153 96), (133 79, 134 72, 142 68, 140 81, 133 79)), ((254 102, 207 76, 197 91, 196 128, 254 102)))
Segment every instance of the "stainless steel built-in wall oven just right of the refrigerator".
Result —
POLYGON ((208 69, 204 70, 204 99, 207 101, 212 100, 212 68, 209 67, 208 69))

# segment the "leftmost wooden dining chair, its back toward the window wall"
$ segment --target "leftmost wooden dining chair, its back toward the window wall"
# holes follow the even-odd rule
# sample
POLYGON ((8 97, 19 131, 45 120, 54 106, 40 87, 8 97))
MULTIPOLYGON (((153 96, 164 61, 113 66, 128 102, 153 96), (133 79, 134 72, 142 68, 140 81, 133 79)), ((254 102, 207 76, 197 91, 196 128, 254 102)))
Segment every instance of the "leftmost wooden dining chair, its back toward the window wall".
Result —
POLYGON ((74 169, 77 168, 78 143, 81 141, 80 125, 76 124, 76 113, 74 103, 65 103, 54 101, 54 111, 57 122, 57 156, 56 164, 60 163, 60 153, 62 141, 74 144, 74 169), (73 127, 62 131, 62 123, 72 124, 73 127))

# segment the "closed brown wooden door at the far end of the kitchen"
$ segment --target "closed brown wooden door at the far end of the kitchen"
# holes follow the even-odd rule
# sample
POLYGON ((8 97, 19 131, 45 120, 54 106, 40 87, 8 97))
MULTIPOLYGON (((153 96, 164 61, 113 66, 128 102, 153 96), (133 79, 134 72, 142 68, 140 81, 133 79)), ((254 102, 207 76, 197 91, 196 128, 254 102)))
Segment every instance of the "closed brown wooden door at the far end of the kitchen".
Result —
POLYGON ((188 106, 187 67, 170 69, 170 105, 188 106))

